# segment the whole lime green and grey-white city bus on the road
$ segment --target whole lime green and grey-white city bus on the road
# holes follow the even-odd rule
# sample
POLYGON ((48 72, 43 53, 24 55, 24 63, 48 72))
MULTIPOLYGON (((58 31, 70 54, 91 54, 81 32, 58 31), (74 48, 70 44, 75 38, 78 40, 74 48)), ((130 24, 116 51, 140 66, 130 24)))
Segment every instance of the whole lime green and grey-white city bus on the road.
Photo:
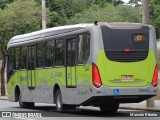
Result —
POLYGON ((155 30, 137 23, 60 26, 8 43, 7 92, 20 107, 56 104, 116 112, 157 94, 155 30))

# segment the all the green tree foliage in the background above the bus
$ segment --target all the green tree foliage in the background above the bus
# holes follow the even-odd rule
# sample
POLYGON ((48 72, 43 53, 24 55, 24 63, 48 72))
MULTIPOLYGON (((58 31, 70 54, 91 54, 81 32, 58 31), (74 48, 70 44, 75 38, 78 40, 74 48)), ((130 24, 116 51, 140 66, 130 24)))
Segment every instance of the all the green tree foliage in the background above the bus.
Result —
MULTIPOLYGON (((130 0, 137 3, 141 0, 130 0)), ((48 27, 65 24, 141 22, 142 7, 121 5, 119 0, 46 0, 48 27), (114 6, 115 5, 115 6, 114 6)), ((160 1, 150 0, 150 23, 160 37, 160 1)), ((41 0, 0 0, 0 36, 3 46, 17 34, 41 29, 41 0), (13 2, 14 1, 14 2, 13 2), (8 4, 10 3, 10 4, 8 4)))

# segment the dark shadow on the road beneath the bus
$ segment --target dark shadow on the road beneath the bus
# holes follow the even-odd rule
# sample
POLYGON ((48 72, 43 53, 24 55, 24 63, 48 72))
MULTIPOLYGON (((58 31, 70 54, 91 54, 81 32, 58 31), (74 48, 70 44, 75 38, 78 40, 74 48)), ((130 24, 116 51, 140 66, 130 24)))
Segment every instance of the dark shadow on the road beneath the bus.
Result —
POLYGON ((30 109, 24 108, 24 110, 31 112, 39 111, 42 112, 43 115, 49 117, 129 117, 130 116, 130 112, 128 111, 118 111, 116 113, 107 114, 99 110, 81 109, 81 108, 77 108, 75 111, 70 110, 67 112, 59 113, 56 111, 56 108, 52 106, 36 106, 30 109))

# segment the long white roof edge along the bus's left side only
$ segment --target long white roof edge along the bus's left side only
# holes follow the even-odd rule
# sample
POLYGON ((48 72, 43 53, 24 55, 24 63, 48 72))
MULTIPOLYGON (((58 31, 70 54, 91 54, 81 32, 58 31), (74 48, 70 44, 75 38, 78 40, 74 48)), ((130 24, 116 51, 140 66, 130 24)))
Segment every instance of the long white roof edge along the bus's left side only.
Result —
POLYGON ((8 42, 7 48, 16 46, 16 45, 25 44, 25 43, 37 42, 39 41, 38 40, 39 38, 56 36, 64 33, 83 30, 90 25, 91 24, 77 24, 77 25, 59 26, 59 27, 39 30, 39 31, 35 31, 35 32, 23 34, 23 35, 17 35, 10 39, 10 41, 8 42))

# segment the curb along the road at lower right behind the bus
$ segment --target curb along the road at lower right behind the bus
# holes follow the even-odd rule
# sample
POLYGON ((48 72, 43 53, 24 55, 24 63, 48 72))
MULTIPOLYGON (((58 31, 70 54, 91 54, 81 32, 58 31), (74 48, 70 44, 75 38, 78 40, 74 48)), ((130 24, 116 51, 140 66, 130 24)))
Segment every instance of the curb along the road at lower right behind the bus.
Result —
POLYGON ((119 107, 119 109, 128 109, 128 110, 145 110, 145 111, 152 111, 152 112, 160 112, 160 109, 154 109, 154 108, 119 107))

